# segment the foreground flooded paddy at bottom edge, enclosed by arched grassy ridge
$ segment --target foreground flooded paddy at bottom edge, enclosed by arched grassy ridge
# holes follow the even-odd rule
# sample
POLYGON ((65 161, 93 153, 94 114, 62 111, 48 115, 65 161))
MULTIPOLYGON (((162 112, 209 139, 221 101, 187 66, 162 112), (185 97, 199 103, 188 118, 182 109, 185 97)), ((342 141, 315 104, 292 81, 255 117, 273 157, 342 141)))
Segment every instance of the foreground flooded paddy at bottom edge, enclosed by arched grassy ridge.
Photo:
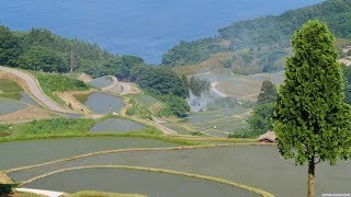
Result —
POLYGON ((69 193, 89 188, 147 196, 259 196, 226 184, 196 177, 122 169, 73 170, 44 177, 24 187, 69 193))

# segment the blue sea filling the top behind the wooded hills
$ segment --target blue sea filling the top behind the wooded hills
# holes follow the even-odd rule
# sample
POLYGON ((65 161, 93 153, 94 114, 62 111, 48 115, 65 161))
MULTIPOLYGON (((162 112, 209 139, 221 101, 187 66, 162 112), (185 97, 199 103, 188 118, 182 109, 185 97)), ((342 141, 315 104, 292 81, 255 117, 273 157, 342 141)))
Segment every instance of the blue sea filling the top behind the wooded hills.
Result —
POLYGON ((0 24, 45 27, 114 54, 159 63, 181 40, 217 34, 233 22, 280 14, 321 0, 0 0, 0 24))

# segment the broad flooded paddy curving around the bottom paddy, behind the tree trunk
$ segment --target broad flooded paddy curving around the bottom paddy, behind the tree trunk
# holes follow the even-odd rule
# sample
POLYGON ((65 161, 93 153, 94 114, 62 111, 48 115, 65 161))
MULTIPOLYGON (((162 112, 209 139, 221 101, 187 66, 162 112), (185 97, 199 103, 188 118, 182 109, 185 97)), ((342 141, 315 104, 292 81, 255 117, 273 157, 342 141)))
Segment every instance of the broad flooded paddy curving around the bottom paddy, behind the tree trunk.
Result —
MULTIPOLYGON (((270 192, 276 196, 305 196, 307 166, 295 166, 280 157, 274 146, 233 146, 207 149, 120 152, 81 158, 47 166, 10 173, 25 181, 48 172, 87 165, 133 165, 222 177, 270 192)), ((349 193, 351 163, 335 166, 320 163, 316 169, 316 196, 349 193)))

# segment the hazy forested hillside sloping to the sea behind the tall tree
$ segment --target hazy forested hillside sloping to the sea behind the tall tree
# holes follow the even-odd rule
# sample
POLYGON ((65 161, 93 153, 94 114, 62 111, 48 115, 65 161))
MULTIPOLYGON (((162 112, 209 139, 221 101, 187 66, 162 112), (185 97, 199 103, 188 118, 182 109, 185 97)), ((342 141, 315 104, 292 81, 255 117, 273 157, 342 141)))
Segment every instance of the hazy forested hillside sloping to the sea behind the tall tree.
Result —
POLYGON ((351 1, 326 0, 322 3, 234 23, 218 30, 218 35, 191 43, 181 42, 162 57, 170 67, 199 63, 216 53, 233 53, 223 67, 238 73, 282 70, 286 55, 292 53, 290 38, 294 31, 312 19, 327 22, 340 38, 351 38, 351 1))

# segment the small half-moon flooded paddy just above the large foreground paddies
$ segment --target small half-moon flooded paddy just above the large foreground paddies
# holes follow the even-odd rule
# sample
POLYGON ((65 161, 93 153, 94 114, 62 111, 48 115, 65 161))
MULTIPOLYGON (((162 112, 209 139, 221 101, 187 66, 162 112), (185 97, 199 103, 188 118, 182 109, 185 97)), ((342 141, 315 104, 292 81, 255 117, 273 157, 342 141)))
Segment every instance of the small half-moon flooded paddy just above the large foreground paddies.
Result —
POLYGON ((93 125, 91 132, 126 132, 132 130, 141 130, 145 127, 138 123, 121 118, 107 118, 93 125))

